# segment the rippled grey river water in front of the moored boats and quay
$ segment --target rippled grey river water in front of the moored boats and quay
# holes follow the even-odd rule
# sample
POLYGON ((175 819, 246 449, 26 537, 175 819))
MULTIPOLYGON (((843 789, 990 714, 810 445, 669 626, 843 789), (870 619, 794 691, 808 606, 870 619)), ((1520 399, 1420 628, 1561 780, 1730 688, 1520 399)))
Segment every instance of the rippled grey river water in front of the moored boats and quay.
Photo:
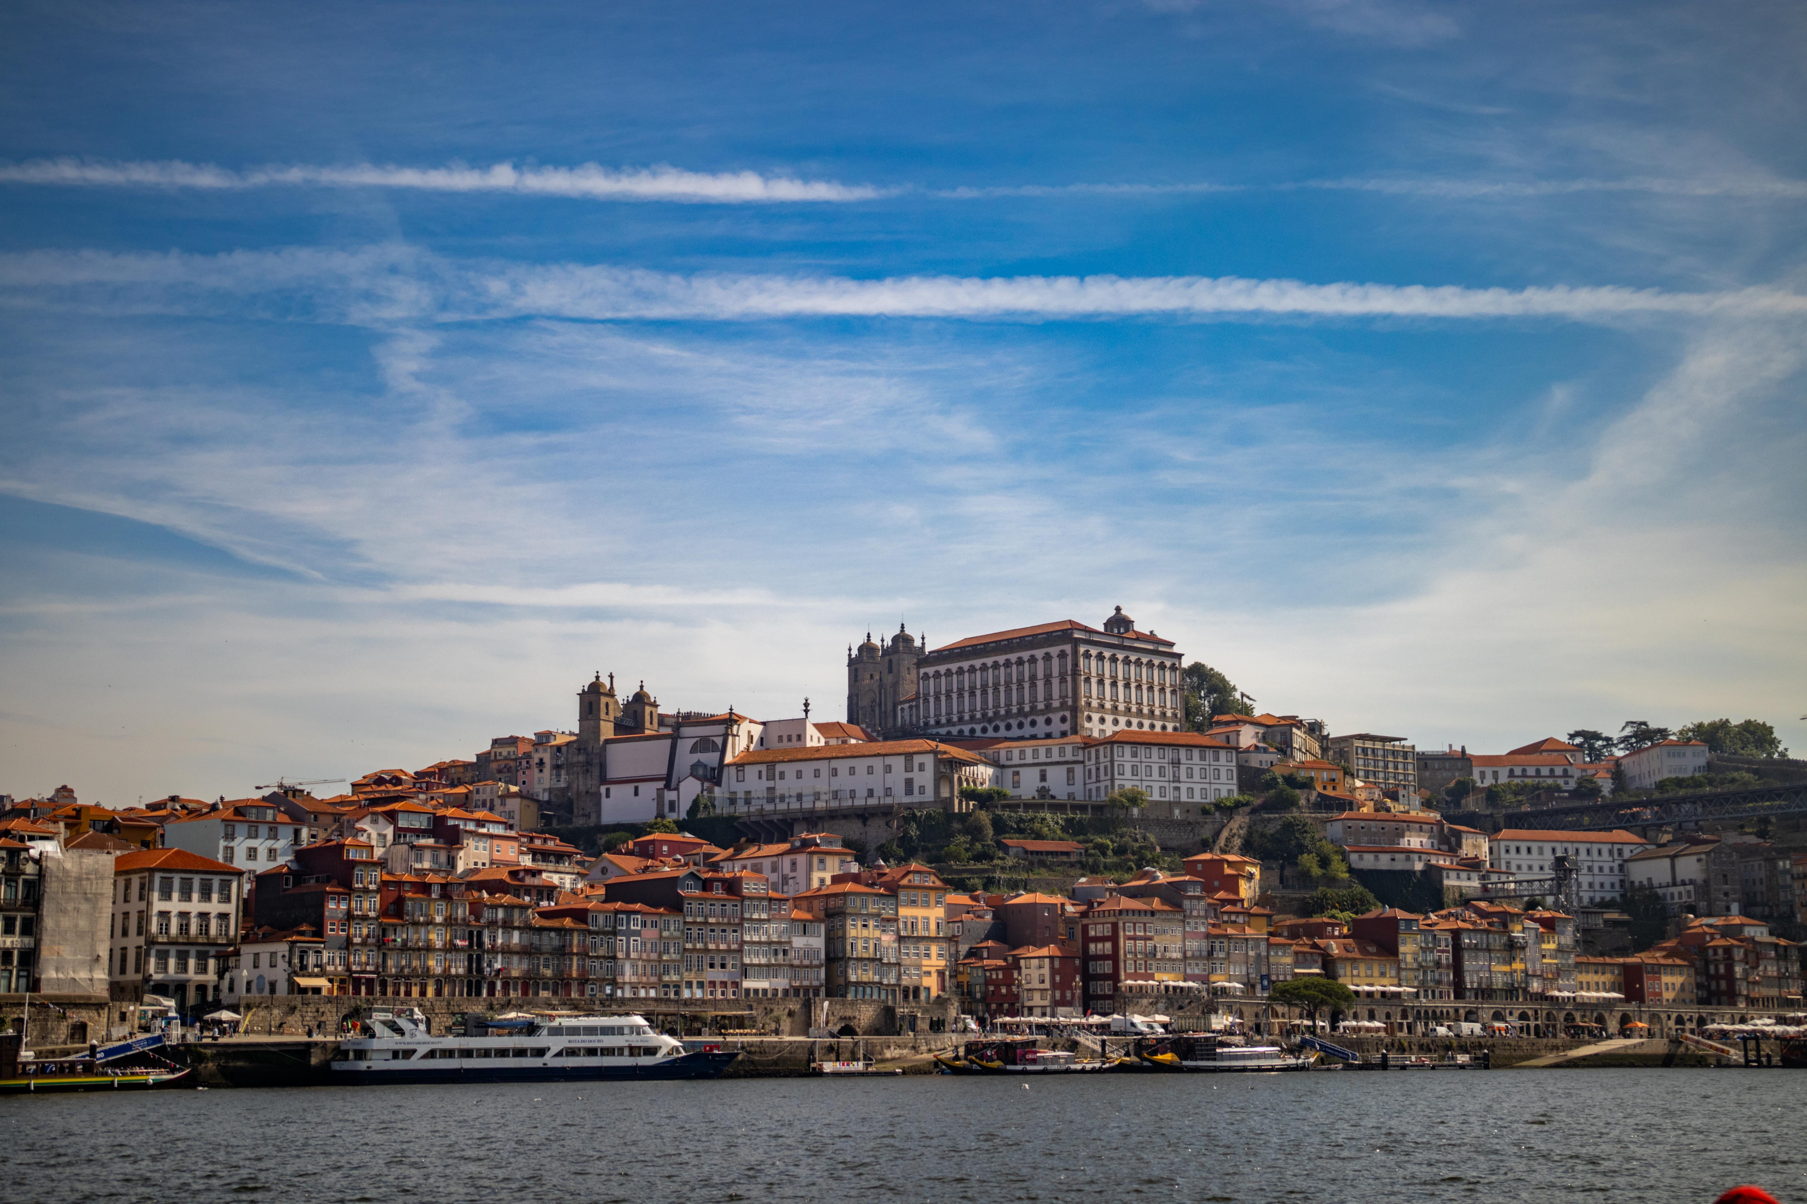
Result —
POLYGON ((1807 1074, 1493 1070, 0 1099, 0 1200, 1807 1204, 1807 1074))

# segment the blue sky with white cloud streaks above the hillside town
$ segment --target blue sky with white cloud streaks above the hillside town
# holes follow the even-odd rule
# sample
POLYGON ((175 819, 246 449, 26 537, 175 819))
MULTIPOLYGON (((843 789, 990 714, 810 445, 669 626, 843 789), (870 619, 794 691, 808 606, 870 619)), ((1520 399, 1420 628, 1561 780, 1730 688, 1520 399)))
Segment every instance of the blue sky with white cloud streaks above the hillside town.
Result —
MULTIPOLYGON (((1122 607, 1261 709, 1807 749, 1794 4, 0 13, 0 792, 1122 607)), ((331 787, 327 787, 331 789, 331 787)))

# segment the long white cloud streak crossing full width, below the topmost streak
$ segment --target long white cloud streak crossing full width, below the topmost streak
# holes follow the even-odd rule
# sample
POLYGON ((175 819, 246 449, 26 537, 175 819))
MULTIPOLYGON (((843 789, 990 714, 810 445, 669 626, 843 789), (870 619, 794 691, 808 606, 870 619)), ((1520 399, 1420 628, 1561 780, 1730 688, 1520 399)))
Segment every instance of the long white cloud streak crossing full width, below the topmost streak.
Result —
POLYGON ((446 260, 399 245, 228 255, 22 253, 0 256, 0 303, 92 312, 244 312, 407 323, 566 318, 757 321, 786 318, 1558 318, 1802 316, 1773 287, 1662 289, 1310 283, 1238 276, 679 274, 595 264, 446 260))

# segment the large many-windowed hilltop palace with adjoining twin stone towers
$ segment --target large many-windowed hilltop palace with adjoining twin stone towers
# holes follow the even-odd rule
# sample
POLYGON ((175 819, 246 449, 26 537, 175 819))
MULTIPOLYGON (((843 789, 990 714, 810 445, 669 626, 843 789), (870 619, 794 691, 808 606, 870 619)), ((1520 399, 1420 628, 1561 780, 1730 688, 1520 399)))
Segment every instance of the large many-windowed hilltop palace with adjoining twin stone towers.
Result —
POLYGON ((1182 657, 1122 607, 1104 630, 1075 619, 972 635, 932 652, 900 630, 847 653, 847 722, 931 736, 1109 736, 1178 731, 1182 657))

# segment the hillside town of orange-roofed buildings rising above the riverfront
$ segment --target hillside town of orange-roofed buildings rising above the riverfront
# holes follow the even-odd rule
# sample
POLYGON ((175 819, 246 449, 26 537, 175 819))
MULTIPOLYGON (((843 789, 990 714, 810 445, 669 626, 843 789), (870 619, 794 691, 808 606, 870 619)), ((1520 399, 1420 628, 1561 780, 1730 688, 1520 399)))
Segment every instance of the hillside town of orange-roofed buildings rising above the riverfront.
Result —
POLYGON ((1258 711, 1122 608, 938 648, 900 628, 846 671, 842 720, 667 711, 596 671, 575 731, 340 792, 0 796, 0 1005, 90 1007, 107 1031, 146 1002, 195 1023, 305 996, 1270 1031, 1281 984, 1319 978, 1348 991, 1341 1031, 1802 1009, 1798 820, 1523 821, 1760 778, 1713 733, 1339 735, 1258 711))

